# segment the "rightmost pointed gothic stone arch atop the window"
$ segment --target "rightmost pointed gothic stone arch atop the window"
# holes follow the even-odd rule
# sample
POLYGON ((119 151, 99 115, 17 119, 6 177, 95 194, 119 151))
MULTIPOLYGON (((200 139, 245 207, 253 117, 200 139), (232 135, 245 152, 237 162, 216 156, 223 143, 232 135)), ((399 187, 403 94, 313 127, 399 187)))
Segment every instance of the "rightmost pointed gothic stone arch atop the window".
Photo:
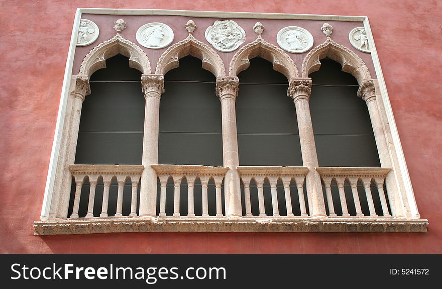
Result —
POLYGON ((371 79, 370 72, 364 61, 349 48, 327 37, 327 40, 314 47, 302 62, 302 77, 307 78, 312 72, 318 71, 320 60, 328 57, 342 66, 342 71, 352 74, 361 85, 364 79, 371 79))

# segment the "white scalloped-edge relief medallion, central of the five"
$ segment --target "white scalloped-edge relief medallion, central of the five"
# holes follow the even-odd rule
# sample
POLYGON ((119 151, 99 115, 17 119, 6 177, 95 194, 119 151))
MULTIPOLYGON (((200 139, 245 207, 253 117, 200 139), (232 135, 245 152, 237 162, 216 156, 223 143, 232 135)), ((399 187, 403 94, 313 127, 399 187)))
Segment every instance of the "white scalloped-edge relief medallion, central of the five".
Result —
POLYGON ((216 20, 205 31, 205 39, 218 51, 231 52, 246 40, 246 32, 233 20, 216 20))

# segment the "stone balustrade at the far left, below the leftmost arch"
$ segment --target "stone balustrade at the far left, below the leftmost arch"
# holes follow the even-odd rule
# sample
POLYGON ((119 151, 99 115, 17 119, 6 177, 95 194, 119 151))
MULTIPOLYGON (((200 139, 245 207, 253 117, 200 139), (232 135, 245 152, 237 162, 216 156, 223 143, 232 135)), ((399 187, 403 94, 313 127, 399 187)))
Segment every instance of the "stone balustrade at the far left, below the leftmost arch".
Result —
POLYGON ((126 181, 131 180, 132 184, 132 196, 131 196, 131 213, 129 216, 137 216, 137 192, 138 184, 141 177, 141 173, 144 170, 143 165, 69 165, 69 171, 75 178, 75 197, 71 219, 79 218, 78 210, 80 207, 81 188, 86 178, 89 179, 90 190, 88 196, 87 214, 85 218, 92 218, 93 207, 95 200, 95 188, 99 178, 103 181, 103 202, 101 207, 101 213, 99 217, 107 217, 108 201, 109 201, 109 188, 114 178, 118 182, 118 197, 117 197, 117 213, 115 217, 122 217, 123 208, 123 189, 126 181))

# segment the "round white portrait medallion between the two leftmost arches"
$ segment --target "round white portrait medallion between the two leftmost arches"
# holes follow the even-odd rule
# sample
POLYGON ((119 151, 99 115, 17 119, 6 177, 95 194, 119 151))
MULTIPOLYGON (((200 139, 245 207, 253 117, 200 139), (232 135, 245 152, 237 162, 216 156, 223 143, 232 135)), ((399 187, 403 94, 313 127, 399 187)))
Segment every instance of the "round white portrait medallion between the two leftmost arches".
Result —
POLYGON ((152 22, 140 27, 136 38, 146 48, 160 49, 172 43, 173 31, 164 23, 152 22))

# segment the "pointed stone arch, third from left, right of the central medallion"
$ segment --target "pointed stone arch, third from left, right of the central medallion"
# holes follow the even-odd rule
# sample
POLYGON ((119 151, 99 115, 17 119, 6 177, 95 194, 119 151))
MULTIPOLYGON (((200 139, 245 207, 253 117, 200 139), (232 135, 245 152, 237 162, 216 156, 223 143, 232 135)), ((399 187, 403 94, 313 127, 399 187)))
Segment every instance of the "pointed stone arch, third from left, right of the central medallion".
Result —
POLYGON ((261 56, 273 64, 273 69, 284 74, 288 80, 299 77, 296 64, 290 56, 279 47, 265 41, 261 35, 243 46, 232 58, 229 75, 237 76, 250 66, 250 59, 261 56))

